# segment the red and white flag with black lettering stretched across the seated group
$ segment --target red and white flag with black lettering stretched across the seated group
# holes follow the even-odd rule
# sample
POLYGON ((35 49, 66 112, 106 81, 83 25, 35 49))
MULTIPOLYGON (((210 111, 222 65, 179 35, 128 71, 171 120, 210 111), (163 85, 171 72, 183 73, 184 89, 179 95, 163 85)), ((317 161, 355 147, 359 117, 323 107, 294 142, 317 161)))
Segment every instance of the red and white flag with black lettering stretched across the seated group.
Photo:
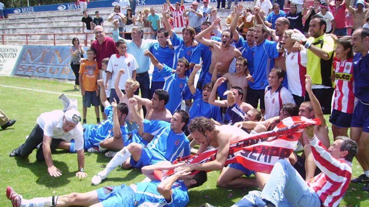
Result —
MULTIPOLYGON (((250 135, 249 137, 230 144, 225 165, 231 163, 242 164, 245 168, 270 173, 273 165, 279 159, 288 159, 299 140, 303 129, 311 124, 320 124, 320 119, 307 119, 302 116, 287 117, 272 131, 250 135)), ((218 148, 207 150, 199 155, 190 155, 177 159, 173 164, 186 162, 187 164, 205 163, 215 160, 218 148)), ((199 171, 194 171, 196 174, 199 171)), ((166 175, 173 171, 166 172, 166 175)))

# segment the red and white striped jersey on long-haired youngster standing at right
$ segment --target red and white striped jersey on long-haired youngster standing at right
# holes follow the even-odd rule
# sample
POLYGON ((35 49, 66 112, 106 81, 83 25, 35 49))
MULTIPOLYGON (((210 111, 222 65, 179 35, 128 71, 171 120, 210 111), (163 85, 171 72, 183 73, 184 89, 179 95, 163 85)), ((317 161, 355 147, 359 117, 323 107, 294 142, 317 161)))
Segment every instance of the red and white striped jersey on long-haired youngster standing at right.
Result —
POLYGON ((334 57, 333 69, 335 71, 335 93, 333 108, 344 113, 354 113, 354 64, 353 58, 341 61, 334 57))

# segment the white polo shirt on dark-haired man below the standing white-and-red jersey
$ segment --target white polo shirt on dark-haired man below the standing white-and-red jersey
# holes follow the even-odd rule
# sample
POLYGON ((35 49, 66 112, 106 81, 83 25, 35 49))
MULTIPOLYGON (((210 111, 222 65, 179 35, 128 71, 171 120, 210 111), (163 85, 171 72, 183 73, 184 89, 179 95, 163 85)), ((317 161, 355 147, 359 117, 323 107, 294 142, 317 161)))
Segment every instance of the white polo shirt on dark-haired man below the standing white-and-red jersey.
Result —
POLYGON ((291 92, 282 85, 272 94, 270 93, 272 87, 265 88, 264 102, 265 102, 265 119, 269 119, 279 115, 280 108, 285 103, 296 104, 291 92))

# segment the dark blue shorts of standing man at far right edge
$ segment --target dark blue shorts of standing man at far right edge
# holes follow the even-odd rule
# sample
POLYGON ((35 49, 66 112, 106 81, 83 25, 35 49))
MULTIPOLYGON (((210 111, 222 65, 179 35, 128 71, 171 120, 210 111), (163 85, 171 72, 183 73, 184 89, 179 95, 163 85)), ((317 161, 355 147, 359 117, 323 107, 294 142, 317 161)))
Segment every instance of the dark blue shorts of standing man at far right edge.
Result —
POLYGON ((363 131, 369 133, 369 105, 358 102, 352 115, 351 127, 362 127, 363 131))

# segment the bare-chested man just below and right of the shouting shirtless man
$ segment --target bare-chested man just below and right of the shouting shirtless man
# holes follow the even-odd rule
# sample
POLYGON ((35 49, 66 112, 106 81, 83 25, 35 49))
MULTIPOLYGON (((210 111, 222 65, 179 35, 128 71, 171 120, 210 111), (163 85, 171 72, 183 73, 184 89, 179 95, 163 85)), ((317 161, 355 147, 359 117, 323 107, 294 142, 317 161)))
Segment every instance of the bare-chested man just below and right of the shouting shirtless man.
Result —
MULTIPOLYGON (((211 76, 211 83, 215 83, 217 81, 217 72, 218 67, 221 66, 222 63, 218 62, 213 70, 213 75, 211 76)), ((227 78, 227 88, 230 89, 231 87, 238 86, 242 88, 244 91, 244 95, 242 96, 242 102, 246 102, 246 94, 247 88, 249 86, 248 81, 251 80, 250 71, 247 67, 247 59, 245 57, 239 56, 237 57, 236 61, 236 72, 235 73, 226 73, 223 75, 224 78, 227 78)))

